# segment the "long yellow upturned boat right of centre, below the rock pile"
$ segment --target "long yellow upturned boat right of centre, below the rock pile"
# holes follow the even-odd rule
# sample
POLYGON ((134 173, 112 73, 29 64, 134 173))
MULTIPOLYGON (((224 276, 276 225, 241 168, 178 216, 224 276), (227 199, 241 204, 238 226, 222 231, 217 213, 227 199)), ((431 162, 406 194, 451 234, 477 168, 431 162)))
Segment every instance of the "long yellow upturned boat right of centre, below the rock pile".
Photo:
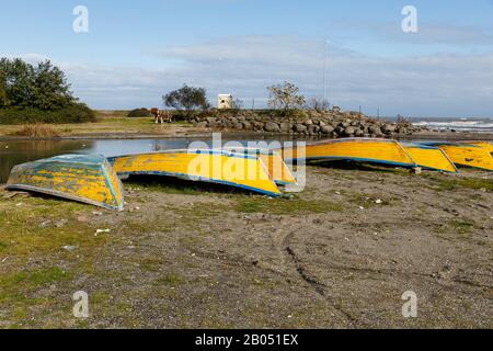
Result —
POLYGON ((395 140, 374 138, 347 138, 309 144, 302 149, 284 149, 285 160, 348 160, 416 167, 411 156, 395 140), (289 156, 291 155, 291 156, 289 156))

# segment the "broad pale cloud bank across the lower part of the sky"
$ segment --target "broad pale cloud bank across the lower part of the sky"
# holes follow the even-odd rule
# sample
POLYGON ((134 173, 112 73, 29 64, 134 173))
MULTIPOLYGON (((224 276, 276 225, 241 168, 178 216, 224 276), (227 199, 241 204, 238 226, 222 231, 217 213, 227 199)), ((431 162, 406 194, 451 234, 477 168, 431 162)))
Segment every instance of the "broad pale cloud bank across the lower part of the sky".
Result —
MULTIPOLYGON (((265 87, 283 80, 308 95, 322 91, 323 41, 287 36, 225 37, 157 53, 167 68, 58 63, 73 90, 94 107, 160 104, 182 83, 205 87, 214 99, 232 92, 249 105, 265 101, 265 87)), ((493 54, 371 57, 330 47, 329 94, 344 109, 367 113, 471 116, 493 111, 493 54)), ((31 54, 32 55, 32 54, 31 54)))

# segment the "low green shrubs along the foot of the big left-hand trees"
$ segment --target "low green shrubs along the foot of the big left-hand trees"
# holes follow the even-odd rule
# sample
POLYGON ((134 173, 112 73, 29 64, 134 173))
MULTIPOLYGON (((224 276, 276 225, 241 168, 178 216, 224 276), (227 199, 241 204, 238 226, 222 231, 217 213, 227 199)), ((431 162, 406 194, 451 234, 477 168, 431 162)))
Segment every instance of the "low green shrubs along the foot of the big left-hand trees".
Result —
POLYGON ((54 111, 33 107, 0 109, 0 124, 87 123, 95 122, 94 111, 83 103, 74 103, 54 111))

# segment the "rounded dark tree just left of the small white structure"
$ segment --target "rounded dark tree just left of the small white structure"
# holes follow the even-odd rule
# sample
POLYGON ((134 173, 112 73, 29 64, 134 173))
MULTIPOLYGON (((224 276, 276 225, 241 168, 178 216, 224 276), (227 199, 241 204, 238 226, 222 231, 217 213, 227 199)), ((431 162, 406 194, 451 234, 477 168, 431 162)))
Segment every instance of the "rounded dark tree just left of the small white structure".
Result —
POLYGON ((194 110, 208 110, 210 105, 207 101, 207 92, 204 88, 194 88, 183 84, 179 90, 169 92, 162 97, 163 103, 168 107, 179 111, 185 110, 190 115, 194 110))

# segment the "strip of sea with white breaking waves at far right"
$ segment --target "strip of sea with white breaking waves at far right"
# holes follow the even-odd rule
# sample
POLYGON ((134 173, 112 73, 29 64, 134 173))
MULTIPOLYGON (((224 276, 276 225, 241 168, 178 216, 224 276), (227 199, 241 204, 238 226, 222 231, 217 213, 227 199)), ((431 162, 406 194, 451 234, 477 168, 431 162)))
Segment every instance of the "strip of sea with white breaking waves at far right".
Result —
POLYGON ((493 134, 493 118, 409 117, 408 121, 436 131, 493 134))

